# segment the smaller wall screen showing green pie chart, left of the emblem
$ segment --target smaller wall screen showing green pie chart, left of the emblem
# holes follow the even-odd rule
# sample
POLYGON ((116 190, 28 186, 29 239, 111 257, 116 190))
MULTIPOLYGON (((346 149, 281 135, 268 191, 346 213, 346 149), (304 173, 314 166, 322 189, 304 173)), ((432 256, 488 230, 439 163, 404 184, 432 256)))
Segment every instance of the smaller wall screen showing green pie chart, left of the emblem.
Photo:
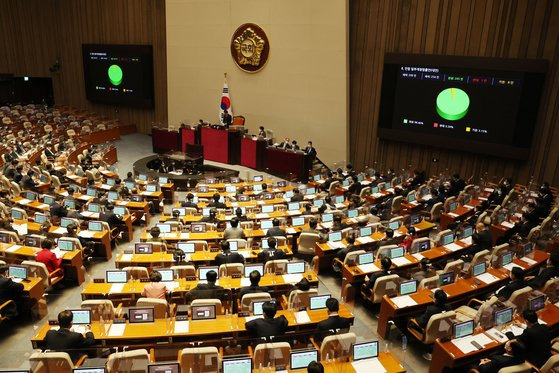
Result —
POLYGON ((153 107, 151 45, 82 45, 87 99, 114 105, 153 107))

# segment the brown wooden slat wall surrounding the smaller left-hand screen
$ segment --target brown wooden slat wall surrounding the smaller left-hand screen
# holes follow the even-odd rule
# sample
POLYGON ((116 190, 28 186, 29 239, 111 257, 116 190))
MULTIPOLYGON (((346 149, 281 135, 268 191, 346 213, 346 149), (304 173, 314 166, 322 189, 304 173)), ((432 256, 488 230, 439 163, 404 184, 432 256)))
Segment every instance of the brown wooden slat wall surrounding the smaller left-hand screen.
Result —
POLYGON ((165 1, 2 0, 0 73, 52 77, 55 102, 95 111, 138 131, 167 123, 165 1), (86 100, 81 45, 151 44, 154 109, 94 104, 86 100), (61 71, 49 67, 60 60, 61 71))

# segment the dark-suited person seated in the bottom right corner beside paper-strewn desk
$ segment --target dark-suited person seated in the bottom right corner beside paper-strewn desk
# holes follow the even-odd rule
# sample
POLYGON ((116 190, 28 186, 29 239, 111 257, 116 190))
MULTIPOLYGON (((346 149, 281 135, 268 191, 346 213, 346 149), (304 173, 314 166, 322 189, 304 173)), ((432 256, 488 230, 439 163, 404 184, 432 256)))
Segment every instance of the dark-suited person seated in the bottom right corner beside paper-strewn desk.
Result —
POLYGON ((547 325, 538 323, 538 314, 532 310, 524 310, 522 317, 526 320, 526 329, 518 338, 512 332, 507 333, 511 340, 518 340, 526 347, 526 360, 542 367, 551 356, 551 332, 547 325))

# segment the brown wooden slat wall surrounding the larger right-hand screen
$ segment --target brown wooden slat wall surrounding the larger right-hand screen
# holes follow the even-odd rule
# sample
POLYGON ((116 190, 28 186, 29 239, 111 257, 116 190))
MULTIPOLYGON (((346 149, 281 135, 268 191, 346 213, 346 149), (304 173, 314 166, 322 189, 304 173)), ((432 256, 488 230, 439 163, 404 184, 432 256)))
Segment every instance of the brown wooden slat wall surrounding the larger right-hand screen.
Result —
POLYGON ((521 183, 533 177, 559 185, 558 1, 351 0, 349 4, 350 160, 357 168, 411 165, 433 175, 511 176, 521 183), (513 161, 378 139, 385 53, 547 59, 548 84, 529 159, 513 161))

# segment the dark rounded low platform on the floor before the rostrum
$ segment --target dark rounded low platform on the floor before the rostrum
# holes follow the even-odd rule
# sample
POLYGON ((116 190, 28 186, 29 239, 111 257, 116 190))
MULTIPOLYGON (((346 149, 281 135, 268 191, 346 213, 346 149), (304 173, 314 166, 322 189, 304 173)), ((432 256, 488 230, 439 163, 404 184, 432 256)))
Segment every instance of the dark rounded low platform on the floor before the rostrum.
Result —
POLYGON ((148 164, 154 163, 160 159, 160 155, 152 155, 149 157, 138 159, 134 162, 133 170, 135 174, 145 174, 150 178, 167 177, 172 180, 177 190, 186 190, 188 187, 194 187, 200 180, 207 178, 231 178, 238 177, 239 171, 230 170, 222 167, 215 167, 209 165, 199 166, 196 171, 191 174, 175 175, 174 173, 159 172, 157 169, 148 167, 148 164))

